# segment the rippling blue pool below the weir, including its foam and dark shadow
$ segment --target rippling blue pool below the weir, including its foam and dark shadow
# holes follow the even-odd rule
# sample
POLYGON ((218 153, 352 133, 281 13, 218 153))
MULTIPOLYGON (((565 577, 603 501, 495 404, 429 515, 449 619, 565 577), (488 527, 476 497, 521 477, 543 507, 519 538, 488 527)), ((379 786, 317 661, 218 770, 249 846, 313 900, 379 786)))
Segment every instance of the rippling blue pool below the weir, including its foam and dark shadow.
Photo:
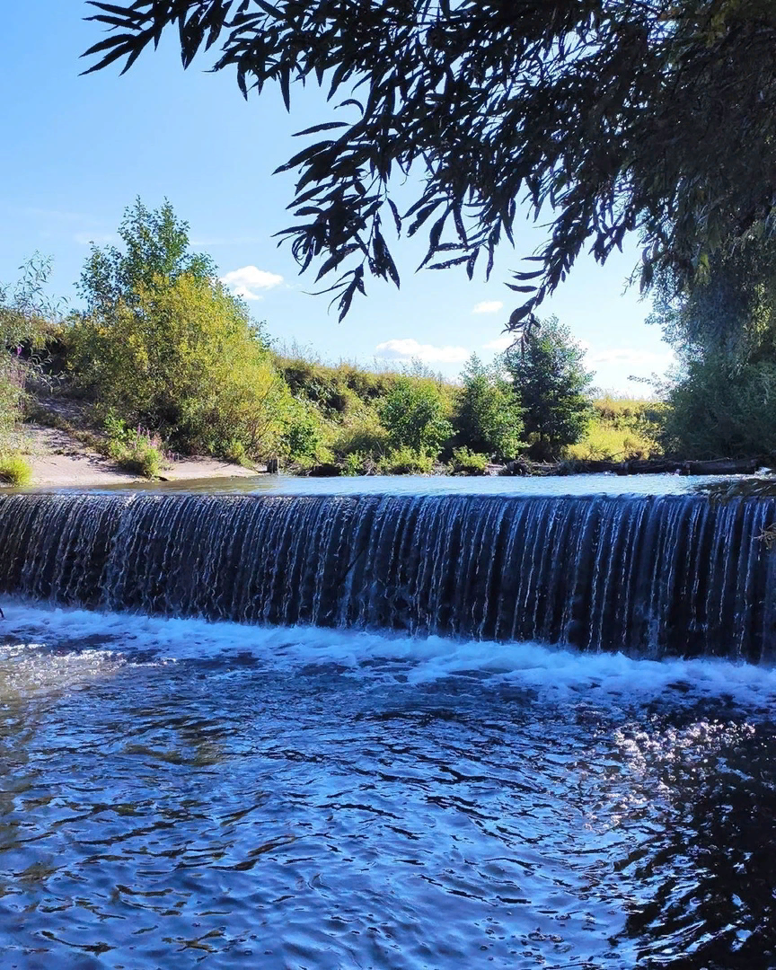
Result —
POLYGON ((776 965, 776 674, 7 613, 4 967, 776 965))

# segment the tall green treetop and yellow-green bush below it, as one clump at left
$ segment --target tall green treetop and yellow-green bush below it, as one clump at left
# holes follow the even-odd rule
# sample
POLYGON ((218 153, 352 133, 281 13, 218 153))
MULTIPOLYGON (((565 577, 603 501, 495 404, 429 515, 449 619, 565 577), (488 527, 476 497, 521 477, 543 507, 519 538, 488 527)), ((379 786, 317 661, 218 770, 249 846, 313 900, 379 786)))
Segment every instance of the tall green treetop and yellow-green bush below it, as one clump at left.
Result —
POLYGON ((189 251, 168 202, 138 199, 118 235, 123 248, 92 246, 81 274, 87 309, 67 334, 76 380, 103 413, 179 451, 275 453, 293 401, 244 302, 189 251))

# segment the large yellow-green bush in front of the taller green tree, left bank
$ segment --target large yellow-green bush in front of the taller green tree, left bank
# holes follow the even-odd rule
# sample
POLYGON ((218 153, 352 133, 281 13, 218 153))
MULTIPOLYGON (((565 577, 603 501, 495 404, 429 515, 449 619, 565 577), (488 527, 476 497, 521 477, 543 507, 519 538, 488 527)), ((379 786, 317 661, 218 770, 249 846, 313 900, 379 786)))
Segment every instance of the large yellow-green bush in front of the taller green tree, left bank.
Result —
POLYGON ((293 409, 242 304, 220 284, 180 275, 141 285, 132 307, 79 318, 69 334, 76 380, 103 413, 142 425, 177 451, 275 454, 293 409))

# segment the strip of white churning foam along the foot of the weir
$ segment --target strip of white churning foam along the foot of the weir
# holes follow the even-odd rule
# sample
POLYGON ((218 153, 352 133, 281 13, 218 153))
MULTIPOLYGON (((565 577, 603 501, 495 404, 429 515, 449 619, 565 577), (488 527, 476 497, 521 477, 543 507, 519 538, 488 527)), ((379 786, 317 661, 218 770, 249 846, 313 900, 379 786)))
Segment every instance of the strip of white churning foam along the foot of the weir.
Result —
MULTIPOLYGON (((555 696, 610 694, 648 700, 665 695, 729 695, 762 706, 776 700, 776 670, 721 660, 633 660, 623 654, 583 654, 536 643, 457 641, 315 627, 250 627, 198 619, 162 619, 129 613, 100 613, 24 602, 4 603, 0 634, 13 634, 11 649, 29 656, 40 649, 84 640, 89 652, 132 662, 133 655, 175 663, 249 653, 268 665, 299 667, 336 663, 364 677, 383 664, 382 675, 420 684, 477 672, 489 680, 555 696), (366 669, 365 669, 366 665, 366 669)), ((11 659, 6 651, 6 657, 11 659)))

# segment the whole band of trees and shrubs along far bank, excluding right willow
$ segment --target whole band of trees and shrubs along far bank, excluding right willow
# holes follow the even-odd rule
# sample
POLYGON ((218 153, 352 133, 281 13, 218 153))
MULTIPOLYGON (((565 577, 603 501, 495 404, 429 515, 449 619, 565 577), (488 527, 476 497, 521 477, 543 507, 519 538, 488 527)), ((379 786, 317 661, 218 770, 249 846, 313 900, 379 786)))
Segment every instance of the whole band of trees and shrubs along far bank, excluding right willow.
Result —
POLYGON ((20 414, 30 354, 55 334, 61 386, 91 414, 90 443, 148 476, 170 451, 276 457, 300 471, 482 474, 525 449, 562 457, 591 434, 584 354, 554 318, 491 366, 472 355, 456 382, 419 361, 328 366, 273 348, 210 258, 190 252, 169 204, 138 200, 119 237, 120 246, 92 247, 85 308, 58 329, 44 309, 45 276, 0 290, 0 415, 20 414))

